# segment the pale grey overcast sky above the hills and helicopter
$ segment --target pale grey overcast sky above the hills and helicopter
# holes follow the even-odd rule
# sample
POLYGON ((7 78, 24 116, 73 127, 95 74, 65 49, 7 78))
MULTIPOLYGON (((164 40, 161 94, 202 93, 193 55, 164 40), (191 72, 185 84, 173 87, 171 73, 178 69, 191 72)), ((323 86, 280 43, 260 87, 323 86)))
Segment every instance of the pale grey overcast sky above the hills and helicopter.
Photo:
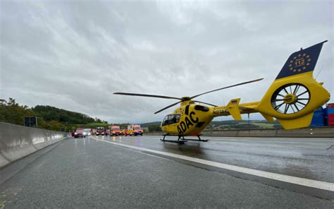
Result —
POLYGON ((334 95, 333 10, 333 1, 1 0, 0 98, 161 121, 173 108, 154 112, 177 100, 112 93, 182 97, 264 78, 197 98, 258 101, 292 52, 323 40, 314 76, 323 68, 318 80, 334 95))

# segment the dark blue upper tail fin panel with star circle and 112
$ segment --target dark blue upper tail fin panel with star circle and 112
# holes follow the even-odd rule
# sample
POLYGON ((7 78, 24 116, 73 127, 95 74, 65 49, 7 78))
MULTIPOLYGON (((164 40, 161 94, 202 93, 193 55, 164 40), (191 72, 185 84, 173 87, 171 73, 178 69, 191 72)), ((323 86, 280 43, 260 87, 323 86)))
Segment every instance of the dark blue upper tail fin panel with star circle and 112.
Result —
POLYGON ((314 71, 324 42, 291 54, 276 79, 314 71))

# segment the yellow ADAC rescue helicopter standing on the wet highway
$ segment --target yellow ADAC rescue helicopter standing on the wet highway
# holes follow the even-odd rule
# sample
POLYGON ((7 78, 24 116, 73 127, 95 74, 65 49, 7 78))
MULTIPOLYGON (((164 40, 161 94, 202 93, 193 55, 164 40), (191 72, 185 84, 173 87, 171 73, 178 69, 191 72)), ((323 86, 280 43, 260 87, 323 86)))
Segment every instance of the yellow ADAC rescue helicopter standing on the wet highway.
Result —
POLYGON ((114 92, 113 94, 179 100, 154 113, 157 114, 180 103, 180 107, 168 114, 161 122, 161 129, 166 133, 161 141, 175 143, 207 141, 200 138, 200 133, 214 117, 231 115, 233 119, 241 120, 241 114, 254 112, 261 113, 267 121, 271 122, 275 117, 284 129, 303 128, 311 123, 314 110, 330 100, 330 93, 323 88, 323 83, 318 83, 313 78, 316 61, 324 42, 291 54, 276 80, 259 102, 240 103, 240 98, 237 98, 230 100, 226 106, 216 106, 193 99, 209 92, 257 82, 263 78, 203 92, 192 97, 168 97, 127 92, 114 92), (178 140, 169 141, 165 139, 166 136, 178 136, 178 140), (198 139, 185 139, 185 136, 197 136, 198 139))

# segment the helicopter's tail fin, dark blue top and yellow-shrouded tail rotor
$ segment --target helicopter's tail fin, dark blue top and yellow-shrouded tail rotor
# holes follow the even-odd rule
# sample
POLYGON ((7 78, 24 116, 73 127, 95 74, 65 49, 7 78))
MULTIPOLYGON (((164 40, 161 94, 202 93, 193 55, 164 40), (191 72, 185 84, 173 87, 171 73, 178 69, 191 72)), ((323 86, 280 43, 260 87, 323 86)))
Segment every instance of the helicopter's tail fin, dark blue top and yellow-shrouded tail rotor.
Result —
POLYGON ((256 107, 257 111, 275 117, 285 129, 298 129, 311 124, 314 110, 330 99, 322 83, 313 78, 324 42, 289 56, 256 107))

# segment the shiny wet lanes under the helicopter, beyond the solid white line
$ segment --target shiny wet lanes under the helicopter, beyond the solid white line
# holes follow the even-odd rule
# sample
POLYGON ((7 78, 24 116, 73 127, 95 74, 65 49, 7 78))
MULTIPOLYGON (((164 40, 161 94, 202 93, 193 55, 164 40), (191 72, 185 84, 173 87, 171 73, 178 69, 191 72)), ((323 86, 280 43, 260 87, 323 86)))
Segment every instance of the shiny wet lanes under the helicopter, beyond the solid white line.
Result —
POLYGON ((163 143, 159 138, 103 137, 115 143, 334 183, 334 138, 203 137, 210 141, 188 141, 184 145, 163 143))

